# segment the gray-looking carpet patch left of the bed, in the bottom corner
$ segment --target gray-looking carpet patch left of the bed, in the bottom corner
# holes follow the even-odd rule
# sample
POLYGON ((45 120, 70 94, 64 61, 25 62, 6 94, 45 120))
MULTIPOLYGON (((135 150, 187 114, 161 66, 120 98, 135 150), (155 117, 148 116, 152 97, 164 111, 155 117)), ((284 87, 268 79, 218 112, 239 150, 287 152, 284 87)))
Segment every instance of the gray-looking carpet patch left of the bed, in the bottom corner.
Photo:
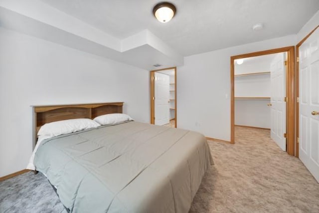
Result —
POLYGON ((0 213, 66 213, 44 175, 33 172, 0 181, 0 213))

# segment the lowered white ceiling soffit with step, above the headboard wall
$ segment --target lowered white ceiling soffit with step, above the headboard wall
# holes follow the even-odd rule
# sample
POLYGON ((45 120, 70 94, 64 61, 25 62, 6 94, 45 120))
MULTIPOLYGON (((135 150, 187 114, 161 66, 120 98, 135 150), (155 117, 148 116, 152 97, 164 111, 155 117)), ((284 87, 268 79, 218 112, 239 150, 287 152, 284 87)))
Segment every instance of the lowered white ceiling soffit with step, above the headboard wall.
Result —
POLYGON ((184 60, 148 29, 119 39, 39 0, 0 0, 0 26, 148 70, 184 60))

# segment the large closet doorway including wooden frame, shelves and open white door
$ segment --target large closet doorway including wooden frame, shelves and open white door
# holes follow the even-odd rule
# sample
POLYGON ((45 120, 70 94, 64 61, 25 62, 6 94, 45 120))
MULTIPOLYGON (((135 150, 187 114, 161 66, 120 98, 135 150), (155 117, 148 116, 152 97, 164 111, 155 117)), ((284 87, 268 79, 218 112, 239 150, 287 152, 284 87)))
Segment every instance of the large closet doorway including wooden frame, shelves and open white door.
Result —
POLYGON ((232 56, 231 83, 231 143, 257 128, 294 155, 294 47, 232 56))

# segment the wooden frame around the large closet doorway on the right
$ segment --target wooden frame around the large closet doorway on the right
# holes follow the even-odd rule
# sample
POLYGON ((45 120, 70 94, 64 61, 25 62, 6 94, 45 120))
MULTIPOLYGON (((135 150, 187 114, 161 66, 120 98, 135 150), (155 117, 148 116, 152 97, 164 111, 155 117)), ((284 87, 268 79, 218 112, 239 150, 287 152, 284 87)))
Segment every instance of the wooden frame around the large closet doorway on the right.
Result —
POLYGON ((230 143, 235 143, 235 67, 234 61, 240 58, 248 58, 254 56, 268 55, 273 53, 287 52, 287 75, 286 75, 286 97, 287 97, 287 109, 286 109, 286 133, 287 133, 287 153, 289 155, 295 155, 295 46, 287 46, 276 49, 269 49, 258 52, 251 52, 241 55, 234 55, 230 57, 230 143))

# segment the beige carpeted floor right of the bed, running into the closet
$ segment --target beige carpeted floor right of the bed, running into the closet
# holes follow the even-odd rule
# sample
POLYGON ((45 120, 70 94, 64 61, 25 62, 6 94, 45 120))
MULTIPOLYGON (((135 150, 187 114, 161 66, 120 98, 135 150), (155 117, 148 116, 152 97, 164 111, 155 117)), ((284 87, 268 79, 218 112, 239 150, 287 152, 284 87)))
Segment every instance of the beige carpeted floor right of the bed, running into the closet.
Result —
POLYGON ((319 213, 319 184, 269 130, 236 127, 235 144, 209 141, 214 158, 191 213, 319 213))

